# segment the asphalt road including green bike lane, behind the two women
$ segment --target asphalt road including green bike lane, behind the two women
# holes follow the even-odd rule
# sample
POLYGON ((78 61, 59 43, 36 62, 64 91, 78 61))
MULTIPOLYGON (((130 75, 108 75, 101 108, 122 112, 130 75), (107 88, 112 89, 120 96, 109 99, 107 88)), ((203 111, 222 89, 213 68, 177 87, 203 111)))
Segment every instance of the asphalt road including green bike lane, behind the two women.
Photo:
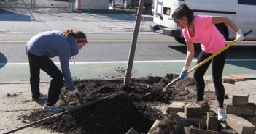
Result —
MULTIPOLYGON (((74 78, 123 78, 127 66, 133 33, 88 33, 88 44, 71 58, 70 69, 74 78), (117 70, 122 70, 117 72, 117 70)), ((13 35, 15 36, 15 34, 13 35)), ((16 35, 17 36, 17 35, 16 35)), ((32 34, 20 34, 19 40, 0 41, 1 59, 0 82, 28 81, 29 67, 25 53, 25 44, 32 34), (13 73, 15 70, 15 73, 13 73)), ((256 46, 254 41, 237 43, 227 50, 227 61, 223 74, 252 74, 255 72, 256 46)), ((136 45, 133 65, 133 77, 145 75, 164 76, 177 73, 183 67, 186 46, 173 38, 158 33, 141 32, 136 45)), ((195 45, 195 59, 200 46, 195 45)), ((53 61, 59 65, 58 57, 53 61)), ((207 75, 211 75, 208 70, 207 75)), ((42 72, 42 80, 50 80, 42 72)))

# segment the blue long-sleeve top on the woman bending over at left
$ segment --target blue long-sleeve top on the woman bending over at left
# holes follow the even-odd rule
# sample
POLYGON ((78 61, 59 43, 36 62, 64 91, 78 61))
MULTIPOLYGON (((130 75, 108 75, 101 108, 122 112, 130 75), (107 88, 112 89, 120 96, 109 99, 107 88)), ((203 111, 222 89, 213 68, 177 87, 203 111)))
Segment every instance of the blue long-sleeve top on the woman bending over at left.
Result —
POLYGON ((27 49, 36 56, 48 56, 50 58, 59 56, 63 77, 69 90, 75 89, 71 72, 69 70, 69 59, 78 54, 77 43, 73 37, 65 38, 62 31, 53 30, 34 35, 27 43, 27 49))

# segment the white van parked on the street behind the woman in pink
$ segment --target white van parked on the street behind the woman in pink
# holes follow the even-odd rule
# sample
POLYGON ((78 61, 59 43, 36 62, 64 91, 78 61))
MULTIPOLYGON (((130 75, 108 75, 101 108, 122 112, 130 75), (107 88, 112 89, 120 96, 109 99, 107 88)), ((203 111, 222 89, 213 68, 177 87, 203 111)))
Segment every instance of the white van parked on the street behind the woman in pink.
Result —
MULTIPOLYGON (((155 0, 153 5, 154 25, 150 25, 150 30, 162 33, 163 35, 173 36, 179 43, 185 43, 181 28, 171 18, 174 10, 183 3, 193 10, 194 15, 225 16, 243 32, 252 29, 252 33, 245 38, 246 40, 256 40, 255 0, 155 0)), ((217 24, 216 27, 226 40, 236 38, 236 33, 224 23, 217 24)))

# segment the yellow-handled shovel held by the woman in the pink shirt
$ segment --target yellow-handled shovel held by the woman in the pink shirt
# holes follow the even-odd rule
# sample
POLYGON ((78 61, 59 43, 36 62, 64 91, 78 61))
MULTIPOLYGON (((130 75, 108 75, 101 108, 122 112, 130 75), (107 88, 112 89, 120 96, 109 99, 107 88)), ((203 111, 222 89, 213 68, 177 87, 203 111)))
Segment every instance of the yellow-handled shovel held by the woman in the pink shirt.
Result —
MULTIPOLYGON (((244 33, 244 36, 248 35, 249 33, 252 33, 252 30, 248 30, 247 33, 244 33)), ((200 62, 199 64, 197 64, 195 67, 193 67, 192 69, 187 71, 187 75, 190 74, 190 72, 193 72, 194 70, 198 69, 198 67, 201 67, 203 64, 205 64, 206 62, 209 62, 209 60, 211 60, 212 58, 214 58, 214 56, 217 56, 218 54, 220 54, 222 51, 225 51, 226 49, 228 49, 230 46, 232 46, 233 44, 237 43, 238 40, 235 39, 234 41, 228 43, 227 46, 225 46, 223 49, 220 49, 219 51, 217 51, 215 54, 212 54, 212 56, 209 56, 207 59, 204 59, 203 62, 200 62)), ((179 76, 179 78, 176 78, 175 80, 171 81, 171 83, 168 83, 168 85, 166 85, 165 88, 163 88, 163 90, 161 92, 166 92, 167 88, 176 83, 177 81, 181 80, 181 77, 179 76)), ((152 94, 152 92, 146 93, 145 96, 149 96, 150 94, 152 94)))

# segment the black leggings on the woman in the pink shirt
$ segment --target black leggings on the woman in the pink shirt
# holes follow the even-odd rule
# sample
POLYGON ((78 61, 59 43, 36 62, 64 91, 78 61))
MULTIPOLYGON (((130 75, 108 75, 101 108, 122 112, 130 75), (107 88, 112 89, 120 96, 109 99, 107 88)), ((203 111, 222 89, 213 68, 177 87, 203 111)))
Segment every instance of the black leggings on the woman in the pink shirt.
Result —
MULTIPOLYGON (((206 53, 201 51, 198 56, 197 64, 202 62, 204 59, 208 58, 212 54, 206 53)), ((203 93, 205 88, 205 83, 203 79, 203 75, 205 74, 206 70, 208 69, 209 65, 212 62, 212 79, 215 87, 215 93, 217 96, 217 100, 220 107, 223 107, 224 97, 225 97, 225 89, 222 84, 222 72, 225 65, 226 54, 225 51, 215 56, 209 62, 206 62, 197 70, 195 70, 194 78, 196 82, 196 91, 197 91, 197 101, 203 101, 203 93)))

